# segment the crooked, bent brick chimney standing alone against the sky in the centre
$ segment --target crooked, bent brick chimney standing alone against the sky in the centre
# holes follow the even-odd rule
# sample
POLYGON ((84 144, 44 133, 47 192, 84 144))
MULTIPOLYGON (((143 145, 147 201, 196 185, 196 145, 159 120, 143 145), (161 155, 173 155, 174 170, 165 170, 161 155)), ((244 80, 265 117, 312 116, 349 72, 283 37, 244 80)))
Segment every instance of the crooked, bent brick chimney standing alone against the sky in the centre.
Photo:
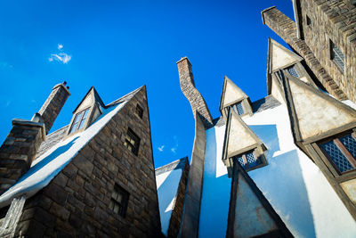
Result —
POLYGON ((190 102, 191 110, 193 111, 194 118, 197 116, 203 121, 204 127, 210 128, 213 126, 213 118, 207 108, 206 101, 195 87, 193 73, 191 71, 191 63, 187 57, 177 62, 179 81, 181 83, 182 93, 190 102))

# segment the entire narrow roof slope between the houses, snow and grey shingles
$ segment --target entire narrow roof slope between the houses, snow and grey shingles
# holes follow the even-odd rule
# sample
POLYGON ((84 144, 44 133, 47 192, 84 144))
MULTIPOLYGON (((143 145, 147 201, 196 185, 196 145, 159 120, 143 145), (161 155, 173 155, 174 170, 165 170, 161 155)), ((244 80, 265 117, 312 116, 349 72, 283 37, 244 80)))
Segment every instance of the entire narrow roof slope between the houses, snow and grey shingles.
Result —
POLYGON ((162 233, 166 235, 186 160, 187 157, 156 169, 159 216, 162 233))

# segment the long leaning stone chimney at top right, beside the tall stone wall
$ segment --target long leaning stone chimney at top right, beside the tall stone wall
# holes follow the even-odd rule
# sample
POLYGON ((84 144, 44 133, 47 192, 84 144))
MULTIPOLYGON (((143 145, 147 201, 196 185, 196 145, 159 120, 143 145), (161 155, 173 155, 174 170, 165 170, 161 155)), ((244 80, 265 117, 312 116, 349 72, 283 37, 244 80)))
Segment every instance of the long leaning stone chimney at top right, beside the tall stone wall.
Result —
MULTIPOLYGON (((264 10, 262 14, 263 23, 276 32, 279 37, 282 37, 296 53, 299 53, 303 57, 307 66, 328 90, 328 93, 340 100, 347 99, 344 94, 344 86, 340 84, 339 80, 336 81, 336 78, 330 77, 328 70, 320 63, 320 59, 314 55, 310 46, 303 39, 296 37, 295 21, 289 19, 275 7, 264 10)), ((352 99, 352 97, 350 98, 352 99)))

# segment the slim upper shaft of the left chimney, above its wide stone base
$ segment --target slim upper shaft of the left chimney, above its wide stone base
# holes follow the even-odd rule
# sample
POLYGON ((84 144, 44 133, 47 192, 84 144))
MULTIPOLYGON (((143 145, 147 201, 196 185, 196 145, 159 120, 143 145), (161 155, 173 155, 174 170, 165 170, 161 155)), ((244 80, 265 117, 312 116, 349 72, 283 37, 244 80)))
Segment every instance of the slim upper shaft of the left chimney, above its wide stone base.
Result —
MULTIPOLYGON (((48 96, 38 114, 44 119, 45 134, 51 130, 54 120, 60 114, 61 108, 69 97, 69 86, 67 82, 53 86, 52 93, 48 96)), ((35 117, 33 118, 35 119, 35 117)))

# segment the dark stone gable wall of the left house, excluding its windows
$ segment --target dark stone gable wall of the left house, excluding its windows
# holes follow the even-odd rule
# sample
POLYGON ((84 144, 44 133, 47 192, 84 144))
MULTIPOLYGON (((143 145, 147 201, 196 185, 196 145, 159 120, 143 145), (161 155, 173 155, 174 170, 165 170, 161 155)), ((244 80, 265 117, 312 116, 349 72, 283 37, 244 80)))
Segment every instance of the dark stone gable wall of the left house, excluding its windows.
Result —
POLYGON ((26 237, 160 237, 158 195, 145 87, 54 177, 28 199, 18 235, 26 237), (144 109, 135 114, 136 104, 144 109), (125 146, 130 127, 138 155, 125 146), (109 209, 115 185, 129 195, 125 217, 109 209))

